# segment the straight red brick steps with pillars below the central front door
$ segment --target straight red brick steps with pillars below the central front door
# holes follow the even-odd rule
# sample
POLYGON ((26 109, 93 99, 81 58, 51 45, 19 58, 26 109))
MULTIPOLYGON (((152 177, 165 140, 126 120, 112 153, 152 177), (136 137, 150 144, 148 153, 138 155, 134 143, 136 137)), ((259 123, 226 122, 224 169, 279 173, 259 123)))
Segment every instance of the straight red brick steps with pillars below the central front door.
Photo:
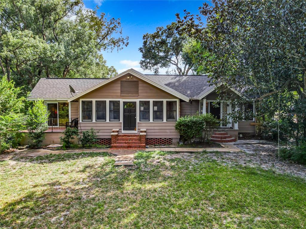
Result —
POLYGON ((118 134, 113 130, 111 133, 112 143, 110 149, 145 149, 146 148, 146 133, 140 134, 118 134))

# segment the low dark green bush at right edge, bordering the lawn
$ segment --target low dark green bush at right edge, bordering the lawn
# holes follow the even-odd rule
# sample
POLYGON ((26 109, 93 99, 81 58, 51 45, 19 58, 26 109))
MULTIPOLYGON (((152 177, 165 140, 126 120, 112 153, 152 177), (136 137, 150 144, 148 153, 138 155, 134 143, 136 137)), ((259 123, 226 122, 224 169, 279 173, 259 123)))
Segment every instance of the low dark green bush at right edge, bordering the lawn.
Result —
POLYGON ((282 148, 280 156, 284 159, 306 165, 306 142, 301 142, 297 147, 289 146, 282 148))

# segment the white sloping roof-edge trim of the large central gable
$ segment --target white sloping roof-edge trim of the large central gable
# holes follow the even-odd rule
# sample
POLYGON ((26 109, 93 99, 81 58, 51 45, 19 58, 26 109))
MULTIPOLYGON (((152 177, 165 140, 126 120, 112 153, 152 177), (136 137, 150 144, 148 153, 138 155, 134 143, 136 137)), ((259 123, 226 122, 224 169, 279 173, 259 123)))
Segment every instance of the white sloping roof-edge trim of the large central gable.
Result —
POLYGON ((146 75, 140 73, 139 71, 136 71, 136 70, 134 70, 134 69, 131 68, 131 69, 129 69, 129 70, 127 70, 127 71, 124 71, 124 72, 122 72, 122 73, 120 73, 120 74, 118 74, 118 75, 116 75, 116 76, 114 76, 114 77, 112 77, 112 78, 109 78, 109 79, 105 80, 105 81, 102 82, 102 83, 99 83, 98 85, 93 86, 92 88, 90 88, 90 89, 88 89, 88 90, 86 90, 86 91, 84 91, 84 92, 82 92, 82 93, 80 93, 80 94, 77 94, 77 95, 75 95, 75 96, 69 98, 69 99, 68 99, 68 102, 71 102, 71 101, 73 101, 73 100, 76 100, 77 98, 79 98, 79 97, 81 97, 81 96, 83 96, 83 95, 85 95, 85 94, 87 94, 87 93, 89 93, 89 92, 91 92, 91 91, 93 91, 93 90, 95 90, 95 89, 97 89, 97 88, 103 86, 103 85, 106 85, 106 84, 108 84, 108 83, 114 81, 115 79, 120 78, 121 76, 123 76, 123 75, 125 75, 125 74, 127 74, 127 73, 129 73, 129 74, 131 74, 131 75, 133 75, 133 76, 136 76, 137 78, 140 78, 140 79, 142 79, 142 80, 144 80, 144 81, 150 83, 151 85, 156 86, 156 87, 158 87, 159 89, 162 89, 163 91, 165 91, 165 92, 167 92, 167 93, 170 93, 171 95, 176 96, 177 98, 179 98, 179 99, 181 99, 181 100, 184 100, 184 101, 188 102, 189 99, 190 99, 189 97, 187 97, 187 96, 185 96, 185 95, 183 95, 183 94, 181 94, 181 93, 179 93, 179 92, 177 92, 177 91, 171 89, 170 87, 167 87, 166 85, 163 85, 163 84, 157 82, 156 80, 154 80, 154 79, 152 79, 152 78, 149 78, 149 77, 147 77, 146 75))

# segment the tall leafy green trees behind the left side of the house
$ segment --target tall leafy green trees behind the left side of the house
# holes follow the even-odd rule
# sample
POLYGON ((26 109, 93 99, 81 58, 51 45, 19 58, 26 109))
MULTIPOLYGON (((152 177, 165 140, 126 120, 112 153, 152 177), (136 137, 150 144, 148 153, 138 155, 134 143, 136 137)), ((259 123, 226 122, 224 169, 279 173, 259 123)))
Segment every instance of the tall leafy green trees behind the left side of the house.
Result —
POLYGON ((102 50, 128 45, 120 19, 84 7, 81 0, 0 2, 0 75, 30 91, 41 77, 116 75, 102 50))

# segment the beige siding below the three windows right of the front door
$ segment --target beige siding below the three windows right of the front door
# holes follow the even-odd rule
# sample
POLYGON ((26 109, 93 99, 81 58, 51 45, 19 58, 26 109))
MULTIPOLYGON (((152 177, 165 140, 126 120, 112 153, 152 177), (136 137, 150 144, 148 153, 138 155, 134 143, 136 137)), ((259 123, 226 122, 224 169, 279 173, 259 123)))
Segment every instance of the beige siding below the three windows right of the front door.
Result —
POLYGON ((138 122, 138 131, 147 129, 146 138, 179 138, 175 122, 138 122))

